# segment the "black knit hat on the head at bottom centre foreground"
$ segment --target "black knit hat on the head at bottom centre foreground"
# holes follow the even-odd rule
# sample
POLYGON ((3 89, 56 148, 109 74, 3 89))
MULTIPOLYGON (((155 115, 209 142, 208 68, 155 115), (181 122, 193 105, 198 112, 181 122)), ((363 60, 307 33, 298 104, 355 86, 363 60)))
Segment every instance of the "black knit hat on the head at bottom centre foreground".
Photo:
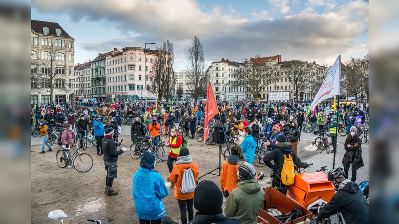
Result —
POLYGON ((210 180, 201 181, 194 191, 194 208, 202 215, 222 213, 223 194, 210 180))

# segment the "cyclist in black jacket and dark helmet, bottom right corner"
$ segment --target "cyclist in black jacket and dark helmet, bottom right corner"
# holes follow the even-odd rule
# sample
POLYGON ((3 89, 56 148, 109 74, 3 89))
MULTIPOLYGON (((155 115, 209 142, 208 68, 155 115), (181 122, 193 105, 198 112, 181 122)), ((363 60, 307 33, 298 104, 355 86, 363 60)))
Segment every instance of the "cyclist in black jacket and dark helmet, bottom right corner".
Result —
POLYGON ((330 202, 320 209, 316 219, 322 220, 340 212, 346 224, 368 224, 369 204, 359 186, 345 178, 345 172, 341 167, 328 172, 327 177, 337 192, 330 202))

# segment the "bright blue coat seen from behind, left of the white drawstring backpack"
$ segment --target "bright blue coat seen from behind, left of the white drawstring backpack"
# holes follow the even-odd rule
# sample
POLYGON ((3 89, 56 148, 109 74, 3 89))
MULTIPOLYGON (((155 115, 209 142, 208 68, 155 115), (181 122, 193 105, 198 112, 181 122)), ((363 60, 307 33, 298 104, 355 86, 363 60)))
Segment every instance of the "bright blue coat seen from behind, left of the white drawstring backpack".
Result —
POLYGON ((153 169, 140 167, 133 177, 133 200, 137 218, 158 220, 164 217, 166 212, 162 199, 168 196, 168 193, 161 174, 153 169))

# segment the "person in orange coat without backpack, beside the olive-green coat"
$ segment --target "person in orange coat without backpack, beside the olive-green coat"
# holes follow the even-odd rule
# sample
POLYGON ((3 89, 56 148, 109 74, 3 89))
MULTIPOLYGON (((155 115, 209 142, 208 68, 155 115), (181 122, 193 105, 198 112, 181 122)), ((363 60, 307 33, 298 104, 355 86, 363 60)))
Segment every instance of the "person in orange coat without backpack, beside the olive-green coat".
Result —
POLYGON ((230 151, 231 154, 228 156, 228 159, 224 161, 220 172, 220 189, 225 198, 228 197, 232 190, 237 188, 237 162, 245 161, 241 147, 238 144, 233 145, 230 151))

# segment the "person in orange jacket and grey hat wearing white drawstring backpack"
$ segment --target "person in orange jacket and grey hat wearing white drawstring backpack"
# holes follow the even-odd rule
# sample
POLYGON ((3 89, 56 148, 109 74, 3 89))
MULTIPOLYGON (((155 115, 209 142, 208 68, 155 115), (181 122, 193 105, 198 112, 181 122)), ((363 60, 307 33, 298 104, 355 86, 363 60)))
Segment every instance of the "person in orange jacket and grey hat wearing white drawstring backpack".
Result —
POLYGON ((197 163, 193 162, 188 148, 183 147, 180 149, 178 161, 176 166, 173 167, 172 173, 169 175, 169 180, 175 183, 175 198, 178 200, 180 208, 180 219, 182 224, 187 224, 187 212, 189 213, 189 222, 194 218, 194 191, 191 193, 183 194, 182 179, 185 170, 190 169, 193 171, 194 180, 197 183, 199 168, 197 163))

